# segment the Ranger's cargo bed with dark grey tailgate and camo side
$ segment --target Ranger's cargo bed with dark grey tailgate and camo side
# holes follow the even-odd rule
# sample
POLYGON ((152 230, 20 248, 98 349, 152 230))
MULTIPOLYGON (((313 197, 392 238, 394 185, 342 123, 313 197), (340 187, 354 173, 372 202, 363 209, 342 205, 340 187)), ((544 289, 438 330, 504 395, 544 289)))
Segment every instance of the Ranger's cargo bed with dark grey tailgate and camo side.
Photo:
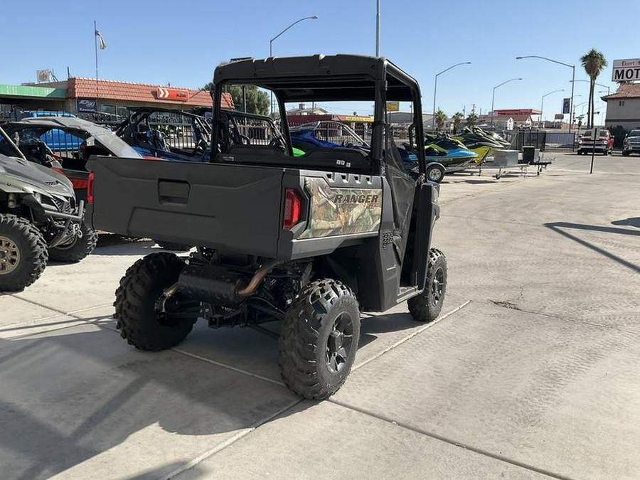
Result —
POLYGON ((93 195, 109 198, 91 206, 91 223, 120 235, 291 260, 357 243, 380 227, 380 177, 113 156, 87 166, 93 195), (288 228, 286 191, 300 200, 298 222, 288 228), (341 221, 323 215, 331 198, 341 221))

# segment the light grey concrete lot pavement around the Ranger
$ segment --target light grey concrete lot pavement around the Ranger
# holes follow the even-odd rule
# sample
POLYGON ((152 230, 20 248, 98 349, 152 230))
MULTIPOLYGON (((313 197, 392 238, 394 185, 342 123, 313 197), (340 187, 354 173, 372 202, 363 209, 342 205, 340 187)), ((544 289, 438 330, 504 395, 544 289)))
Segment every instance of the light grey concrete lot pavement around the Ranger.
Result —
POLYGON ((638 478, 640 159, 589 163, 447 177, 446 318, 368 316, 327 402, 255 331, 122 341, 114 289, 151 242, 50 265, 0 297, 2 478, 638 478))

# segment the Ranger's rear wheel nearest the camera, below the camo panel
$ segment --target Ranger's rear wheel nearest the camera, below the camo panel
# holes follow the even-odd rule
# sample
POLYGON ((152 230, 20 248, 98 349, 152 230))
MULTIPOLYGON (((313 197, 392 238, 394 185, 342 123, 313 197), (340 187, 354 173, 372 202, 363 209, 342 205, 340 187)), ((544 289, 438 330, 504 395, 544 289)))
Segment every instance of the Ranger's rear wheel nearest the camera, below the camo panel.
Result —
POLYGON ((311 282, 287 310, 279 341, 280 373, 297 395, 324 400, 351 371, 360 310, 351 289, 333 279, 311 282))

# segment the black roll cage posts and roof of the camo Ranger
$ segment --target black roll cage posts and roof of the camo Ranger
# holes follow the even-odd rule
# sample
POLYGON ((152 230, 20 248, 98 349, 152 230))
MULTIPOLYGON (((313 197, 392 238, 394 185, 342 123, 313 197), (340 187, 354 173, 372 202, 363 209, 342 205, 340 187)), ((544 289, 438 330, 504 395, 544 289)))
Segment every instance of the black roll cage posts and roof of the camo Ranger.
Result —
MULTIPOLYGON (((371 161, 378 173, 384 169, 384 132, 386 102, 413 103, 420 173, 426 171, 422 103, 417 81, 383 57, 365 55, 309 55, 249 59, 220 65, 213 75, 213 129, 209 161, 217 161, 220 107, 224 85, 256 85, 271 90, 277 100, 280 118, 286 119, 286 102, 357 101, 374 102, 371 161)), ((293 156, 288 122, 282 122, 287 151, 293 156)))

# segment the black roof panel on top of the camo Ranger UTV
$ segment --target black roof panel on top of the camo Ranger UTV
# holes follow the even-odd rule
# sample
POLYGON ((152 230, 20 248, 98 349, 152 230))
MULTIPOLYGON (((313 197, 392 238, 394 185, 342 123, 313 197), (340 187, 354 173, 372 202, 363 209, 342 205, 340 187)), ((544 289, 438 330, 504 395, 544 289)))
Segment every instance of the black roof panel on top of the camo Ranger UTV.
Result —
POLYGON ((309 55, 254 58, 220 65, 213 81, 251 83, 274 90, 284 102, 373 100, 375 81, 387 80, 387 100, 412 100, 417 82, 384 57, 309 55))

